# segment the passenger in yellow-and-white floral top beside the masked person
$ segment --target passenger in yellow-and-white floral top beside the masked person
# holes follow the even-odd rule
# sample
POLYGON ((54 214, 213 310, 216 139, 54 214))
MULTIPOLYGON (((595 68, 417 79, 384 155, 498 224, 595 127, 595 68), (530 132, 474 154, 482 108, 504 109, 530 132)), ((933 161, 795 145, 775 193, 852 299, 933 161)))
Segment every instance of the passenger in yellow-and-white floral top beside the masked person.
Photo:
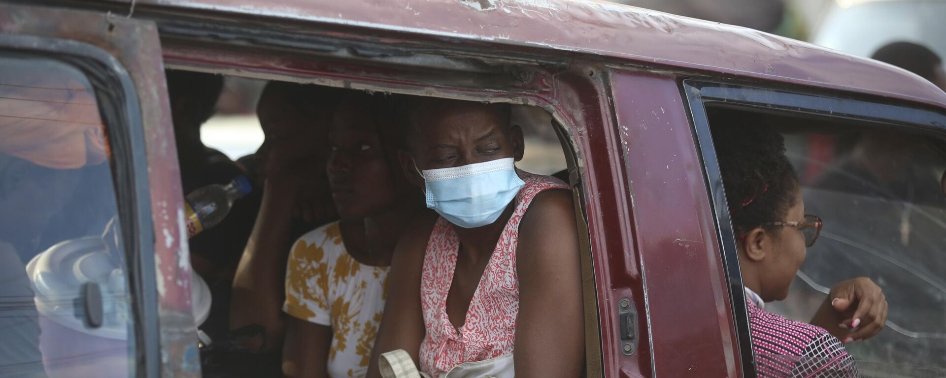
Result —
POLYGON ((342 99, 326 171, 342 220, 308 232, 289 253, 283 349, 288 377, 363 377, 388 292, 394 245, 423 211, 397 163, 397 135, 376 96, 342 99))

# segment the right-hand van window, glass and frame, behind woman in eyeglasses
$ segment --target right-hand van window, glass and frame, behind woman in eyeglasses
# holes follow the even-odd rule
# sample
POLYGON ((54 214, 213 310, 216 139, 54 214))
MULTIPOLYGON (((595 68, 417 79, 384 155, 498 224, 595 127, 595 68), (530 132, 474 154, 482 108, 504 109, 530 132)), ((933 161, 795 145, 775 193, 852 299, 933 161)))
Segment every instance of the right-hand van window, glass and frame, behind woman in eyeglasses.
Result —
MULTIPOLYGON (((703 155, 719 252, 727 263, 745 376, 770 376, 778 369, 847 376, 850 365, 833 359, 841 352, 850 353, 862 377, 946 375, 942 109, 710 79, 687 79, 683 88, 703 155), (732 209, 745 205, 727 201, 713 139, 732 125, 780 134, 806 217, 823 220, 805 236, 806 257, 787 298, 766 303, 765 311, 808 322, 822 303, 830 303, 834 285, 867 277, 883 289, 889 306, 882 332, 860 339, 863 335, 829 324, 824 328, 836 337, 810 342, 804 355, 768 352, 764 343, 770 341, 760 347, 752 342, 757 334, 749 332, 750 304, 736 248, 740 235, 732 223, 738 214, 732 209)), ((844 315, 838 318, 843 321, 844 315)))

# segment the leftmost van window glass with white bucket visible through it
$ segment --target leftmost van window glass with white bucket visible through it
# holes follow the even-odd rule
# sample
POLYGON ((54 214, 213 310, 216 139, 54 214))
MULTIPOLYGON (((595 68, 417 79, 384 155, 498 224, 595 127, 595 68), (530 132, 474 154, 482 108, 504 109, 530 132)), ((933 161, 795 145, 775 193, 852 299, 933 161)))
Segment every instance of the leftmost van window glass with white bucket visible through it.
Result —
POLYGON ((109 155, 79 69, 0 55, 0 376, 134 373, 109 155))

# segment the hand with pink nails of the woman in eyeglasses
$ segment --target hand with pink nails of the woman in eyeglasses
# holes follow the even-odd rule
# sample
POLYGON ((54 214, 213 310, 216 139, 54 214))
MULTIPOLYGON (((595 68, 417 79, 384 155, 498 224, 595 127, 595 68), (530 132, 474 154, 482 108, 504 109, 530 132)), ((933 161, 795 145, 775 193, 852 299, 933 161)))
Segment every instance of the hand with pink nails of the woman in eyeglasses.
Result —
POLYGON ((887 302, 880 286, 858 277, 835 284, 809 323, 849 343, 880 333, 886 317, 887 302))

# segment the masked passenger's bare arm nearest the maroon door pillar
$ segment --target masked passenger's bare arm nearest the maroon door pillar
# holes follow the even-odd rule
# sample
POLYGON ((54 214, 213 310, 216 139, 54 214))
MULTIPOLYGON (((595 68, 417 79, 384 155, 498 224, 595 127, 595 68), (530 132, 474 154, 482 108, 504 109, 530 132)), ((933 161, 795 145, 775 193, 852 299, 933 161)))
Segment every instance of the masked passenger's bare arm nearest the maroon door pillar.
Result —
POLYGON ((571 193, 538 194, 519 224, 516 376, 579 377, 585 362, 578 233, 571 193))

